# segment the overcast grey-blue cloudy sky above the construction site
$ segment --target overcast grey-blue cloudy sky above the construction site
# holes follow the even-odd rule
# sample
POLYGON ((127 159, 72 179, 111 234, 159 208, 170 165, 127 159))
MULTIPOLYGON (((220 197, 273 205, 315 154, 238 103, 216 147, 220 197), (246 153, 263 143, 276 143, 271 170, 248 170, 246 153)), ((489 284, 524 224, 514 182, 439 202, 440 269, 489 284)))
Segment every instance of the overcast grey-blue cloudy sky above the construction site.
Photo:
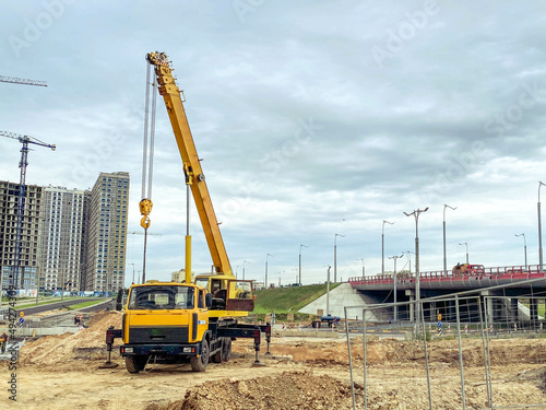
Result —
MULTIPOLYGON (((294 282, 301 249, 304 283, 324 281, 334 242, 339 279, 363 258, 378 273, 383 220, 392 270, 389 256, 415 250, 403 212, 427 207, 420 270, 440 270, 444 204, 449 267, 459 243, 471 262, 523 265, 521 233, 536 265, 545 26, 542 1, 9 2, 0 75, 48 86, 0 83, 0 130, 57 144, 29 153, 28 184, 129 172, 141 232, 144 57, 166 51, 239 276, 263 280, 271 254, 269 281, 294 282)), ((156 118, 146 276, 168 279, 185 263, 186 189, 162 99, 156 118)), ((0 179, 19 181, 19 150, 0 138, 0 179)), ((193 268, 209 271, 192 215, 193 268)), ((128 243, 138 272, 142 236, 128 243)))

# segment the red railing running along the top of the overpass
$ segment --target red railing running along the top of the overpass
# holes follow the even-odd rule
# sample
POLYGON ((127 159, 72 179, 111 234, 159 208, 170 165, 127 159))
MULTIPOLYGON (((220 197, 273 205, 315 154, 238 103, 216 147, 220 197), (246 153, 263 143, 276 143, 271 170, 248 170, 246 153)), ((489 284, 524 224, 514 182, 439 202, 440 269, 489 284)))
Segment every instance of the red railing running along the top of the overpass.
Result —
MULTIPOLYGON (((541 271, 538 265, 513 265, 507 267, 491 267, 484 268, 475 271, 468 272, 459 272, 453 270, 448 270, 447 272, 443 270, 435 270, 435 271, 426 271, 420 272, 419 279, 425 281, 435 281, 435 280, 446 280, 448 278, 468 278, 468 277, 521 277, 529 278, 531 276, 539 276, 546 274, 545 270, 541 271)), ((397 282, 414 282, 415 273, 396 273, 397 282)), ((375 274, 371 277, 354 277, 349 278, 348 282, 351 284, 385 284, 385 283, 394 283, 392 274, 375 274)))

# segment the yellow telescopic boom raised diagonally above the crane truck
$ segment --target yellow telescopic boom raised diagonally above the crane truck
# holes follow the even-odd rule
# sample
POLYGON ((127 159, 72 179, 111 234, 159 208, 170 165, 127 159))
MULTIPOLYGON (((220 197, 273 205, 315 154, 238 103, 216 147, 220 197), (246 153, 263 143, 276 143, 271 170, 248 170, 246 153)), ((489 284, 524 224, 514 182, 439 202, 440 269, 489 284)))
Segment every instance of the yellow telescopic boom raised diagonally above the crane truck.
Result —
POLYGON ((165 52, 150 52, 146 60, 155 67, 159 94, 165 99, 165 106, 167 107, 185 171, 189 177, 191 194, 203 226, 215 271, 216 273, 233 276, 216 214, 206 188, 205 177, 186 117, 186 110, 183 109, 180 90, 173 78, 168 57, 165 52))

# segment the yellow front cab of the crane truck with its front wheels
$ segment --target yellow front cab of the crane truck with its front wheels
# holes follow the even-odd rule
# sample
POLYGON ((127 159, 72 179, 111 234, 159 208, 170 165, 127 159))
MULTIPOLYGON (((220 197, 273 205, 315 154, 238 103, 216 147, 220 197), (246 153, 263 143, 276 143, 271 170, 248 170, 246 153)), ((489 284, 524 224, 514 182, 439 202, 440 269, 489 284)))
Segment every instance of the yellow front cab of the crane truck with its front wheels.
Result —
POLYGON ((149 281, 132 285, 121 329, 120 353, 127 370, 138 373, 154 355, 169 362, 190 358, 192 368, 199 371, 201 358, 210 352, 211 305, 212 295, 195 284, 149 281))

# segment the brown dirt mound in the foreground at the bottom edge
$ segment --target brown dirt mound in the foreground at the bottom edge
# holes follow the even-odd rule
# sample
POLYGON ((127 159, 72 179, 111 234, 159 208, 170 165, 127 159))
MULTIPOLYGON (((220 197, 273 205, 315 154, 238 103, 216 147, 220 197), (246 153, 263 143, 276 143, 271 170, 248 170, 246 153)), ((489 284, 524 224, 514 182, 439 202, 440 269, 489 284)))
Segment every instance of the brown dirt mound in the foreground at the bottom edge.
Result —
MULTIPOLYGON (((361 390, 358 389, 359 396, 361 390)), ((206 382, 186 391, 183 400, 145 410, 246 410, 246 409, 344 409, 351 408, 351 386, 312 371, 239 380, 206 382)))

